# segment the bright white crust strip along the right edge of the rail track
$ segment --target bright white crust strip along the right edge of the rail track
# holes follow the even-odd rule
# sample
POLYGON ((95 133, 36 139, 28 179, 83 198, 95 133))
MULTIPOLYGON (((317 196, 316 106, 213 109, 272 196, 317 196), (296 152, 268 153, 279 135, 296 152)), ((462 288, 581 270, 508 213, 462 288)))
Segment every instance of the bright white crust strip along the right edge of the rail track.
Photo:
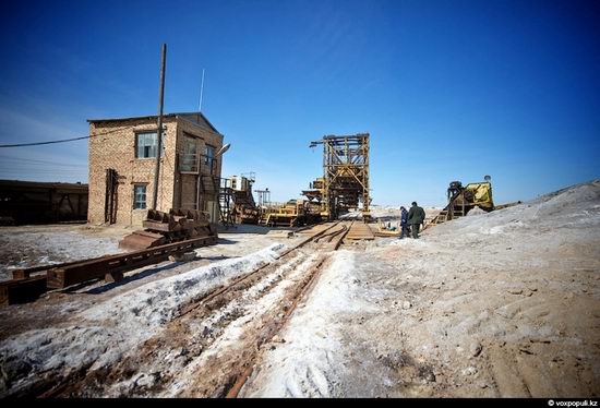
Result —
POLYGON ((310 298, 280 334, 285 340, 268 353, 263 369, 247 387, 248 397, 331 397, 345 370, 339 356, 338 315, 369 309, 352 292, 355 253, 340 251, 323 271, 310 298), (337 355, 337 356, 336 356, 337 355), (337 361, 337 363, 336 363, 337 361))

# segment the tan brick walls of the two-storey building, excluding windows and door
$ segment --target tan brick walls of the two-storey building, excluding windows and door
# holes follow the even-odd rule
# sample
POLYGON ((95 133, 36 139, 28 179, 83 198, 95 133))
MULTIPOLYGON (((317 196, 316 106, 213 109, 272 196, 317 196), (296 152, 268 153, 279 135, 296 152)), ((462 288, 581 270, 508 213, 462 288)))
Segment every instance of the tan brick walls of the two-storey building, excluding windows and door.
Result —
MULTIPOLYGON (((181 175, 177 168, 178 153, 183 152, 185 136, 197 142, 197 153, 204 154, 206 144, 218 149, 223 146, 223 135, 194 122, 192 118, 166 117, 164 120, 165 156, 160 161, 157 209, 168 212, 183 204, 191 207, 196 202, 197 176, 181 175)), ((156 131, 156 119, 128 119, 89 124, 89 201, 88 221, 105 223, 106 170, 113 168, 119 176, 117 190, 117 219, 119 225, 140 227, 146 209, 134 209, 133 189, 135 184, 146 185, 146 208, 152 207, 154 192, 155 158, 135 158, 135 134, 141 131, 156 131)), ((220 178, 221 159, 216 158, 215 176, 220 178)), ((201 172, 208 175, 211 169, 201 160, 201 172)), ((205 202, 215 203, 214 194, 201 194, 201 208, 205 202)), ((218 220, 218 207, 211 205, 213 220, 218 220)))

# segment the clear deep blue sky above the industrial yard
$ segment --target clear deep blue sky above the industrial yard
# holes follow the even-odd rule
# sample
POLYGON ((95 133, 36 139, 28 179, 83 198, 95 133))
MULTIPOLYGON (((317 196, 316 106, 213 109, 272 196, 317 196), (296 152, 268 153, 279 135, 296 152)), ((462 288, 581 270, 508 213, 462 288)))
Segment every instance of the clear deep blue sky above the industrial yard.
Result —
MULTIPOLYGON (((16 3, 16 2, 13 2, 16 3)), ((374 203, 496 202, 600 177, 598 1, 27 1, 0 27, 0 143, 86 119, 203 111, 273 200, 322 173, 324 134, 371 133, 374 203)), ((0 148, 0 178, 86 181, 86 141, 0 148), (55 165, 52 165, 55 164, 55 165)))

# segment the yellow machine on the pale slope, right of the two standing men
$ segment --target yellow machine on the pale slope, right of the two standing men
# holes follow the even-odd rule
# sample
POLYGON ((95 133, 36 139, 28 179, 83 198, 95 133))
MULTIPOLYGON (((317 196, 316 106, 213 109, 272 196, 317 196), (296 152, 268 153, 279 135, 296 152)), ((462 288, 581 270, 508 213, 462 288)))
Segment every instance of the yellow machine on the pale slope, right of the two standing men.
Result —
POLYGON ((465 187, 460 181, 451 182, 447 192, 448 205, 428 226, 464 217, 475 207, 480 207, 485 212, 493 211, 491 178, 485 176, 484 179, 485 181, 468 183, 465 187))

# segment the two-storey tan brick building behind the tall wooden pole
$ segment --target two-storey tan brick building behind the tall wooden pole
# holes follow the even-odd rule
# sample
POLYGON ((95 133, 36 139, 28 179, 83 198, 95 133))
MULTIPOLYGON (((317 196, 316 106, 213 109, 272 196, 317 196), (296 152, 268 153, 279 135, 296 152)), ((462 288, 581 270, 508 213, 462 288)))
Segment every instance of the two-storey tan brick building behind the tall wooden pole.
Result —
MULTIPOLYGON (((88 221, 141 226, 152 207, 157 117, 88 122, 88 221)), ((156 209, 201 209, 217 223, 221 146, 223 135, 204 115, 165 115, 156 209)))

